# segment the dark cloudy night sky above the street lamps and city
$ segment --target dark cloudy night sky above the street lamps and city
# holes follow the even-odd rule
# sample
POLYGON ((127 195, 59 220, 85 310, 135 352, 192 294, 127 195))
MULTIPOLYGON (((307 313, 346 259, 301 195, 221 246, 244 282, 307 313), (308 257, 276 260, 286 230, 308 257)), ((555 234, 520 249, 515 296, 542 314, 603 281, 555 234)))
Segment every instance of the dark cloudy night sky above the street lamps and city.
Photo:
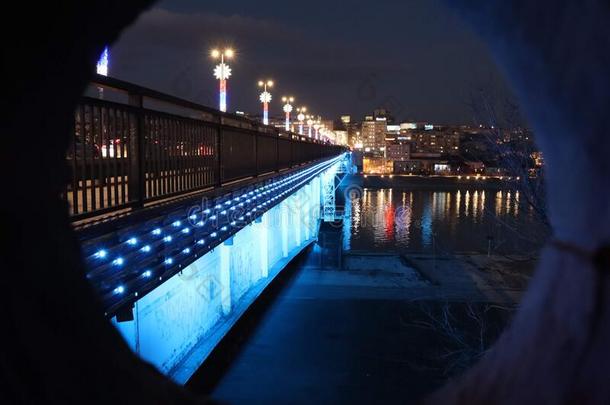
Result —
POLYGON ((228 45, 229 110, 258 113, 273 78, 271 115, 294 95, 327 118, 378 107, 399 120, 473 123, 469 94, 508 94, 484 44, 440 0, 165 0, 111 46, 110 75, 217 106, 209 50, 228 45), (302 6, 301 6, 302 4, 302 6))

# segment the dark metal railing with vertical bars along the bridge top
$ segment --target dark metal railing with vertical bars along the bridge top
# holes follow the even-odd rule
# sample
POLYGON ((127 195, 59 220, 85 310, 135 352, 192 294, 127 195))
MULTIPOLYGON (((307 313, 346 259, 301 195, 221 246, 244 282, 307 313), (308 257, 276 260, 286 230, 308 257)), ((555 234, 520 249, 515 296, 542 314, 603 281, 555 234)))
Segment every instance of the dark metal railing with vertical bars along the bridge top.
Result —
POLYGON ((341 147, 96 76, 74 114, 64 196, 74 220, 338 155, 341 147))

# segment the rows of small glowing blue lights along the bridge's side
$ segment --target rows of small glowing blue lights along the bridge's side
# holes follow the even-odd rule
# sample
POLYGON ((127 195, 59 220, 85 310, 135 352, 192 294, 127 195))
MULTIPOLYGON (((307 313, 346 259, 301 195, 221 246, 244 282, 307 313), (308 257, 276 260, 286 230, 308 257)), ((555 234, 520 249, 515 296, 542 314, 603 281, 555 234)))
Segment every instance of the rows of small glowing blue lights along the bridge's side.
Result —
POLYGON ((342 158, 272 179, 239 196, 219 197, 213 208, 198 215, 186 214, 167 225, 131 232, 121 241, 102 242, 86 259, 87 278, 101 295, 107 315, 150 292, 342 158))

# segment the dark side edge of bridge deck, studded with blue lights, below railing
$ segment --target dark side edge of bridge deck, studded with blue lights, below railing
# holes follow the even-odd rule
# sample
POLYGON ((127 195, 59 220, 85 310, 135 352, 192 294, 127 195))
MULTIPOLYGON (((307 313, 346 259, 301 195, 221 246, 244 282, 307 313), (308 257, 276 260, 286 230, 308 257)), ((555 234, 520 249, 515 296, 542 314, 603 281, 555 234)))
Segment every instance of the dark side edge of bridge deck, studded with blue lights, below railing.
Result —
POLYGON ((131 319, 135 301, 254 222, 337 160, 286 171, 209 201, 185 199, 165 209, 143 209, 81 230, 89 267, 87 278, 100 294, 106 314, 131 319))

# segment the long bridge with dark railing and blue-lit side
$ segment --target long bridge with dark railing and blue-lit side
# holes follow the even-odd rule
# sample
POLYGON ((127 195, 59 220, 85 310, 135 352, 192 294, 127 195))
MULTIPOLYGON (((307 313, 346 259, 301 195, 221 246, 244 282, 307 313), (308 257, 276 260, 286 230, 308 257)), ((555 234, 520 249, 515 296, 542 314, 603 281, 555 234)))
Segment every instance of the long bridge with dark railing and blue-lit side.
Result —
POLYGON ((71 139, 86 276, 132 350, 180 383, 335 220, 351 170, 342 147, 104 76, 71 139))

